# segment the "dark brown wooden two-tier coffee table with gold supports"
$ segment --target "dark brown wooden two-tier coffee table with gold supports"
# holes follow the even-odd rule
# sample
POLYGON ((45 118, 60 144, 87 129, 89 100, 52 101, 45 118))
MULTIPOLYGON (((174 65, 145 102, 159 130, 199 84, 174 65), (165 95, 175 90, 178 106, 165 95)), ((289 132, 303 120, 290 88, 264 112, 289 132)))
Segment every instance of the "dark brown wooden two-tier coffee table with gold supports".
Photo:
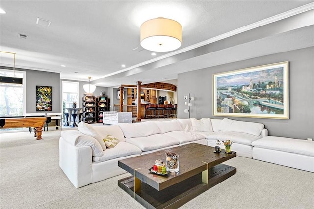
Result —
POLYGON ((191 143, 118 161, 132 176, 118 180, 118 186, 146 208, 178 208, 236 173, 236 168, 221 164, 233 157, 214 153, 214 147, 191 143), (160 176, 149 169, 156 159, 165 161, 166 152, 179 155, 180 170, 160 176))

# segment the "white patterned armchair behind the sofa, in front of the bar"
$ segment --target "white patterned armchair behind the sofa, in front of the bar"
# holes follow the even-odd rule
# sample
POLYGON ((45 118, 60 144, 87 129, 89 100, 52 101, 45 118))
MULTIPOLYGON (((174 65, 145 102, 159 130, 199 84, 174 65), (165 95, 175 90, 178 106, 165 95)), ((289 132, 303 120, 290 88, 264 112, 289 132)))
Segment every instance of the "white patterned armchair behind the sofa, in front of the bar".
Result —
POLYGON ((103 124, 132 123, 132 112, 103 112, 103 124))

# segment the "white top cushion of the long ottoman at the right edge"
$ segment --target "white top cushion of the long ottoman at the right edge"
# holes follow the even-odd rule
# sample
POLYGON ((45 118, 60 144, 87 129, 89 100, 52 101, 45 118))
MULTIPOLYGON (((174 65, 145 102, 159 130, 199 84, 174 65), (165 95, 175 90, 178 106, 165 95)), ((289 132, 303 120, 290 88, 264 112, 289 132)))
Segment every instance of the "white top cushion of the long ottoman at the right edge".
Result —
POLYGON ((314 156, 314 141, 302 139, 265 136, 259 140, 252 142, 252 146, 307 156, 314 156))

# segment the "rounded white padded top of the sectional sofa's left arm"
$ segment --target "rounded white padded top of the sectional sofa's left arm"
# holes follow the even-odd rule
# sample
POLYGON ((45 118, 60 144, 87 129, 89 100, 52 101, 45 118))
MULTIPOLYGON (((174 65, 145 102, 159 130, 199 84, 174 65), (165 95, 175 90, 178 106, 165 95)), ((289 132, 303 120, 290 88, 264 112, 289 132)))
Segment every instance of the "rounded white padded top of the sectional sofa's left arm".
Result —
POLYGON ((100 157, 104 155, 102 146, 99 142, 88 135, 82 135, 78 130, 65 130, 61 131, 61 136, 64 141, 70 143, 73 146, 90 146, 92 148, 92 155, 94 157, 100 157))

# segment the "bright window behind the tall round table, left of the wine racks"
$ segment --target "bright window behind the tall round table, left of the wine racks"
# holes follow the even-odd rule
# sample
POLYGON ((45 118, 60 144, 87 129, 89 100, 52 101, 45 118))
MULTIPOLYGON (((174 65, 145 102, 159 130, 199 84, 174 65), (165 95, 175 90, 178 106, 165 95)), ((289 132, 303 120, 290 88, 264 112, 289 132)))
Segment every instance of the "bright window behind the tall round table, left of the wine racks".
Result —
POLYGON ((62 109, 63 112, 65 108, 72 108, 72 104, 75 102, 77 108, 79 107, 79 83, 62 81, 62 109))

